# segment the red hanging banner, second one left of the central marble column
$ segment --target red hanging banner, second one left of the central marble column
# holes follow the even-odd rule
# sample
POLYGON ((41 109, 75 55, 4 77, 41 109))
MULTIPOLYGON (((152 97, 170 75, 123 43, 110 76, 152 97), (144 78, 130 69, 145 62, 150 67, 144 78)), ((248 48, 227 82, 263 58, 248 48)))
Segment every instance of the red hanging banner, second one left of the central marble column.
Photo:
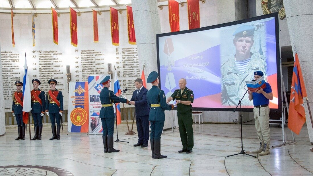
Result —
POLYGON ((112 44, 115 46, 119 46, 119 33, 118 33, 118 14, 115 8, 110 7, 110 15, 111 15, 111 37, 112 44))

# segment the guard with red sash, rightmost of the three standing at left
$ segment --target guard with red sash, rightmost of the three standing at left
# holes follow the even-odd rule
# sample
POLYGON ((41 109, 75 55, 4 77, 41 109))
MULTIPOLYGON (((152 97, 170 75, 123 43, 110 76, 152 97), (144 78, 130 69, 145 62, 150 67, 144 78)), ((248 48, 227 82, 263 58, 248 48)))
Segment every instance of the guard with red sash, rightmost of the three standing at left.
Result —
POLYGON ((63 113, 63 95, 55 88, 58 82, 54 79, 48 81, 51 90, 47 93, 46 114, 50 116, 52 137, 49 140, 60 139, 61 117, 63 113), (55 129, 55 121, 57 128, 55 129))

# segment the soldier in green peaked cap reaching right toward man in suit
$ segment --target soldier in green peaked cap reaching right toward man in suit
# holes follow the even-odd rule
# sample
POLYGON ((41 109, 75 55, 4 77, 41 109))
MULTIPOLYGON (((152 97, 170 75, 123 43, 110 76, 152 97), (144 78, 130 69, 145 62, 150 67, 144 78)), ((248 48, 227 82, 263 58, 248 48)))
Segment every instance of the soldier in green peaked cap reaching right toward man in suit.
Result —
POLYGON ((110 76, 105 76, 105 78, 100 82, 104 87, 100 92, 100 101, 102 104, 100 110, 100 118, 102 122, 103 134, 103 147, 104 153, 119 152, 120 150, 115 150, 113 148, 113 132, 114 132, 114 108, 113 103, 128 103, 125 98, 120 98, 114 94, 113 91, 109 90, 110 76))

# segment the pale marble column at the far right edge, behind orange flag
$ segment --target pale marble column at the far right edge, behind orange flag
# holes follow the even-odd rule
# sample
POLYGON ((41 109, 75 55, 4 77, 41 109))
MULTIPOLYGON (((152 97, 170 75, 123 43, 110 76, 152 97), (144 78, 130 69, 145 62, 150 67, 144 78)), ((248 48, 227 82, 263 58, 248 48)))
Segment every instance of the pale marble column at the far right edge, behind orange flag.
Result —
MULTIPOLYGON (((311 31, 313 22, 313 1, 284 0, 284 6, 293 55, 295 56, 295 53, 298 53, 309 105, 311 113, 313 113, 313 35, 311 31)), ((313 129, 306 101, 304 107, 310 142, 313 142, 313 129)))

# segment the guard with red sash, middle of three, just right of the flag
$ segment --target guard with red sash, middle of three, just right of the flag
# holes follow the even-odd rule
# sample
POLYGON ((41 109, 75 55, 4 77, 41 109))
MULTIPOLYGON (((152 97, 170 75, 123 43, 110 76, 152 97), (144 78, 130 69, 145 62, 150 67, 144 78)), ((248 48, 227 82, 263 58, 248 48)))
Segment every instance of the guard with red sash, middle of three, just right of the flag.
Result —
POLYGON ((46 101, 44 91, 39 90, 41 84, 38 79, 33 79, 33 90, 30 91, 32 101, 32 116, 34 121, 35 136, 31 140, 40 140, 42 132, 42 116, 44 116, 46 101))

